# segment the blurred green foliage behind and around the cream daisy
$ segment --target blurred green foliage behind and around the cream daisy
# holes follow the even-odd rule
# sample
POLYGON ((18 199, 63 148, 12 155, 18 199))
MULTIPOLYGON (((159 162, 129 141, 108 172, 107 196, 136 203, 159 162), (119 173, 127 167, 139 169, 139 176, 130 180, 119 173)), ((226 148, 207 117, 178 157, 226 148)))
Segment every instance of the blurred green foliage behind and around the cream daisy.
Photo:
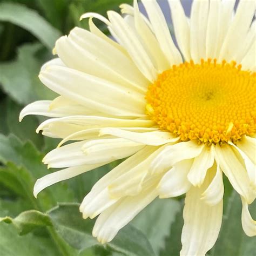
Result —
MULTIPOLYGON (((56 39, 87 11, 105 15, 120 0, 0 0, 0 255, 179 255, 183 198, 157 199, 107 245, 92 237, 94 220, 83 220, 79 202, 95 182, 118 163, 100 167, 47 188, 35 199, 37 178, 49 173, 42 164, 55 139, 36 134, 42 118, 21 109, 55 95, 38 79, 41 65, 52 58, 56 39), (1 218, 2 217, 2 218, 1 218)), ((97 24, 100 29, 105 27, 97 24)), ((54 171, 54 170, 53 170, 54 171)), ((256 215, 256 209, 251 211, 256 215)), ((241 203, 225 180, 223 226, 212 256, 256 254, 256 241, 241 228, 241 203)))

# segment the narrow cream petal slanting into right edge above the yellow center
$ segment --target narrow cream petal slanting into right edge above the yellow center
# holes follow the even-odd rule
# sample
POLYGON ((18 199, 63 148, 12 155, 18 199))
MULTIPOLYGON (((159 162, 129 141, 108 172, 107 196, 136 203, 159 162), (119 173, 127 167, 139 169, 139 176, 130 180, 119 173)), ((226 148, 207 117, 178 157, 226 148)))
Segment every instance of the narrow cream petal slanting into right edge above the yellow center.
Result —
MULTIPOLYGON (((255 25, 256 25, 256 22, 254 20, 251 25, 250 30, 248 31, 248 33, 246 35, 246 38, 244 39, 244 43, 239 45, 239 49, 237 50, 237 53, 235 54, 235 57, 234 57, 234 60, 237 63, 241 63, 242 59, 246 56, 248 50, 250 50, 251 46, 253 45, 253 42, 256 39, 256 26, 255 25)), ((256 51, 256 49, 254 49, 254 50, 256 51)), ((256 53, 255 53, 255 55, 256 55, 256 53)), ((255 62, 256 62, 256 57, 255 57, 255 62)))

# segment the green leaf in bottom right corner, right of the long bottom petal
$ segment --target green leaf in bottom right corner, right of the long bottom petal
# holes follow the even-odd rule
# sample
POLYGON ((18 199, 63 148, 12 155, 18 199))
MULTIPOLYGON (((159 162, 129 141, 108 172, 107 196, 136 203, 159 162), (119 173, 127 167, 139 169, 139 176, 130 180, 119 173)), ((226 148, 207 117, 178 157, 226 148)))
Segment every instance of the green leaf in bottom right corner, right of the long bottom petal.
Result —
MULTIPOLYGON (((256 201, 251 205, 250 211, 256 213, 256 201)), ((241 225, 241 198, 233 191, 227 201, 223 224, 219 238, 211 251, 212 256, 237 255, 254 256, 256 252, 256 238, 247 237, 241 225)), ((253 215, 253 214, 252 214, 253 215)))

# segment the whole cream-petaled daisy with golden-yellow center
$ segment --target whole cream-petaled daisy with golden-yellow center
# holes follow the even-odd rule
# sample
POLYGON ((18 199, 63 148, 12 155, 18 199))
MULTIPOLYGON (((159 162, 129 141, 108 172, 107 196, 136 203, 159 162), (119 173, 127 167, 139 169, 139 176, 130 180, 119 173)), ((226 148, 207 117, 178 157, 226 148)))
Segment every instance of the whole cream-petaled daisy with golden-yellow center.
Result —
POLYGON ((168 2, 177 43, 153 0, 142 0, 147 17, 136 0, 120 6, 124 17, 82 15, 90 31, 60 37, 39 75, 59 97, 31 103, 21 119, 51 117, 37 132, 62 138, 43 159, 62 170, 38 179, 35 196, 126 158, 80 205, 83 218, 98 216, 93 236, 109 242, 155 198, 186 194, 180 254, 204 255, 220 231, 223 173, 241 196, 245 233, 256 235, 256 2, 234 12, 235 0, 194 0, 190 18, 168 2))

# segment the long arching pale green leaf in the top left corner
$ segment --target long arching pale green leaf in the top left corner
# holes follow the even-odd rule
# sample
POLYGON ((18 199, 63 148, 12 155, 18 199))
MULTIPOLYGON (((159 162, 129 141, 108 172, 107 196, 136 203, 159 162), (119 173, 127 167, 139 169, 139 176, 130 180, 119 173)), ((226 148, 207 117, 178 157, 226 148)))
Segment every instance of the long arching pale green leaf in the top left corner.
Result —
POLYGON ((60 32, 35 10, 18 3, 0 3, 0 21, 13 23, 30 31, 50 50, 60 37, 60 32))

